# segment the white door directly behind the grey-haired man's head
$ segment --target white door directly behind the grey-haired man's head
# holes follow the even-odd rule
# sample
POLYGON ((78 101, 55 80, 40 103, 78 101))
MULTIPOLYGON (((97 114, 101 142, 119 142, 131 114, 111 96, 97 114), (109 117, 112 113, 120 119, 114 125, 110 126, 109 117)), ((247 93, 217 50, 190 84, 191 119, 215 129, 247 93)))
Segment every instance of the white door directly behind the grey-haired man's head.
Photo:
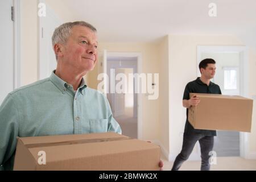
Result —
MULTIPOLYGON (((44 1, 40 1, 46 4, 44 1)), ((39 80, 51 75, 56 68, 56 56, 52 48, 52 34, 61 20, 46 4, 46 16, 39 17, 39 80)))

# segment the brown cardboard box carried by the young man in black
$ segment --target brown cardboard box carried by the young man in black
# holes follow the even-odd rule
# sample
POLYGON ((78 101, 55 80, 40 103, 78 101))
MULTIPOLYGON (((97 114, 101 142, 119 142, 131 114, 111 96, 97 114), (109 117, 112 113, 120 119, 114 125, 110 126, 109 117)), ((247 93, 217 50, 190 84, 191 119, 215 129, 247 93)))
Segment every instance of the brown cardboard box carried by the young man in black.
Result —
POLYGON ((195 129, 251 131, 253 100, 241 96, 190 93, 200 98, 189 108, 188 121, 195 129))

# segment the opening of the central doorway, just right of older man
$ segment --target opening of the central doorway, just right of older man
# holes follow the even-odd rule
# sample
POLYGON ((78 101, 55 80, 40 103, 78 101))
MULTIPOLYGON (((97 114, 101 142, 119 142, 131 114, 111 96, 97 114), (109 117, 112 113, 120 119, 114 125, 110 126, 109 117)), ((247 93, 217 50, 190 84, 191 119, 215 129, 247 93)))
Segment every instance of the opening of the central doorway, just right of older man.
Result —
POLYGON ((122 134, 131 138, 138 138, 138 97, 134 92, 133 77, 134 73, 138 73, 137 64, 138 57, 108 56, 107 58, 106 70, 110 80, 110 93, 107 94, 107 98, 113 117, 121 126, 122 134), (111 85, 112 83, 114 85, 111 85), (117 89, 122 92, 118 92, 117 89))

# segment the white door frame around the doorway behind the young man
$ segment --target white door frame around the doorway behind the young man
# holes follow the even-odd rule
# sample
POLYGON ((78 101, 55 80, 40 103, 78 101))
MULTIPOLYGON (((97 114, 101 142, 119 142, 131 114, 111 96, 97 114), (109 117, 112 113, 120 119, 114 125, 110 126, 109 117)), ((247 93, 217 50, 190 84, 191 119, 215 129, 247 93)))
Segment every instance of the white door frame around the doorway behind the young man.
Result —
MULTIPOLYGON (((249 60, 247 46, 197 46, 197 67, 201 61, 200 55, 202 52, 240 53, 240 93, 243 97, 249 97, 249 60)), ((200 76, 199 68, 197 68, 197 76, 200 76)), ((250 158, 249 139, 249 133, 240 132, 240 156, 245 159, 250 158)))

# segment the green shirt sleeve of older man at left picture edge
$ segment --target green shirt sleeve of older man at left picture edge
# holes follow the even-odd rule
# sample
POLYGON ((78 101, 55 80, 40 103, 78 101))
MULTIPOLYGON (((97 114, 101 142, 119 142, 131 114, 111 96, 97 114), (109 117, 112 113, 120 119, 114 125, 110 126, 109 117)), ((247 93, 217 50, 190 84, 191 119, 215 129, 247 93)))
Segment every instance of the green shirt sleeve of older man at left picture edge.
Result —
POLYGON ((5 170, 5 163, 15 152, 18 118, 18 107, 13 96, 9 94, 0 106, 0 170, 5 170))

